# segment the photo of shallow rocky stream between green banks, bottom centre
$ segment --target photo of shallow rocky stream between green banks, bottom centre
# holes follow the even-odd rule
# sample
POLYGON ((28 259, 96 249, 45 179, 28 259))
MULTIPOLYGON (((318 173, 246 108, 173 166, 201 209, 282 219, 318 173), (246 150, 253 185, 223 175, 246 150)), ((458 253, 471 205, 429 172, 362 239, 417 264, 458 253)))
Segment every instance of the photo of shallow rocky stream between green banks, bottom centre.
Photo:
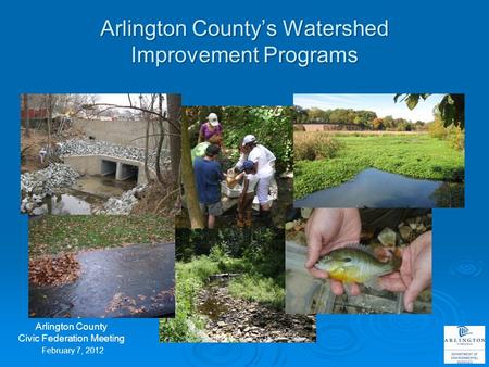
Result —
POLYGON ((284 229, 178 229, 177 308, 160 341, 314 342, 314 316, 285 313, 284 250, 284 229))

